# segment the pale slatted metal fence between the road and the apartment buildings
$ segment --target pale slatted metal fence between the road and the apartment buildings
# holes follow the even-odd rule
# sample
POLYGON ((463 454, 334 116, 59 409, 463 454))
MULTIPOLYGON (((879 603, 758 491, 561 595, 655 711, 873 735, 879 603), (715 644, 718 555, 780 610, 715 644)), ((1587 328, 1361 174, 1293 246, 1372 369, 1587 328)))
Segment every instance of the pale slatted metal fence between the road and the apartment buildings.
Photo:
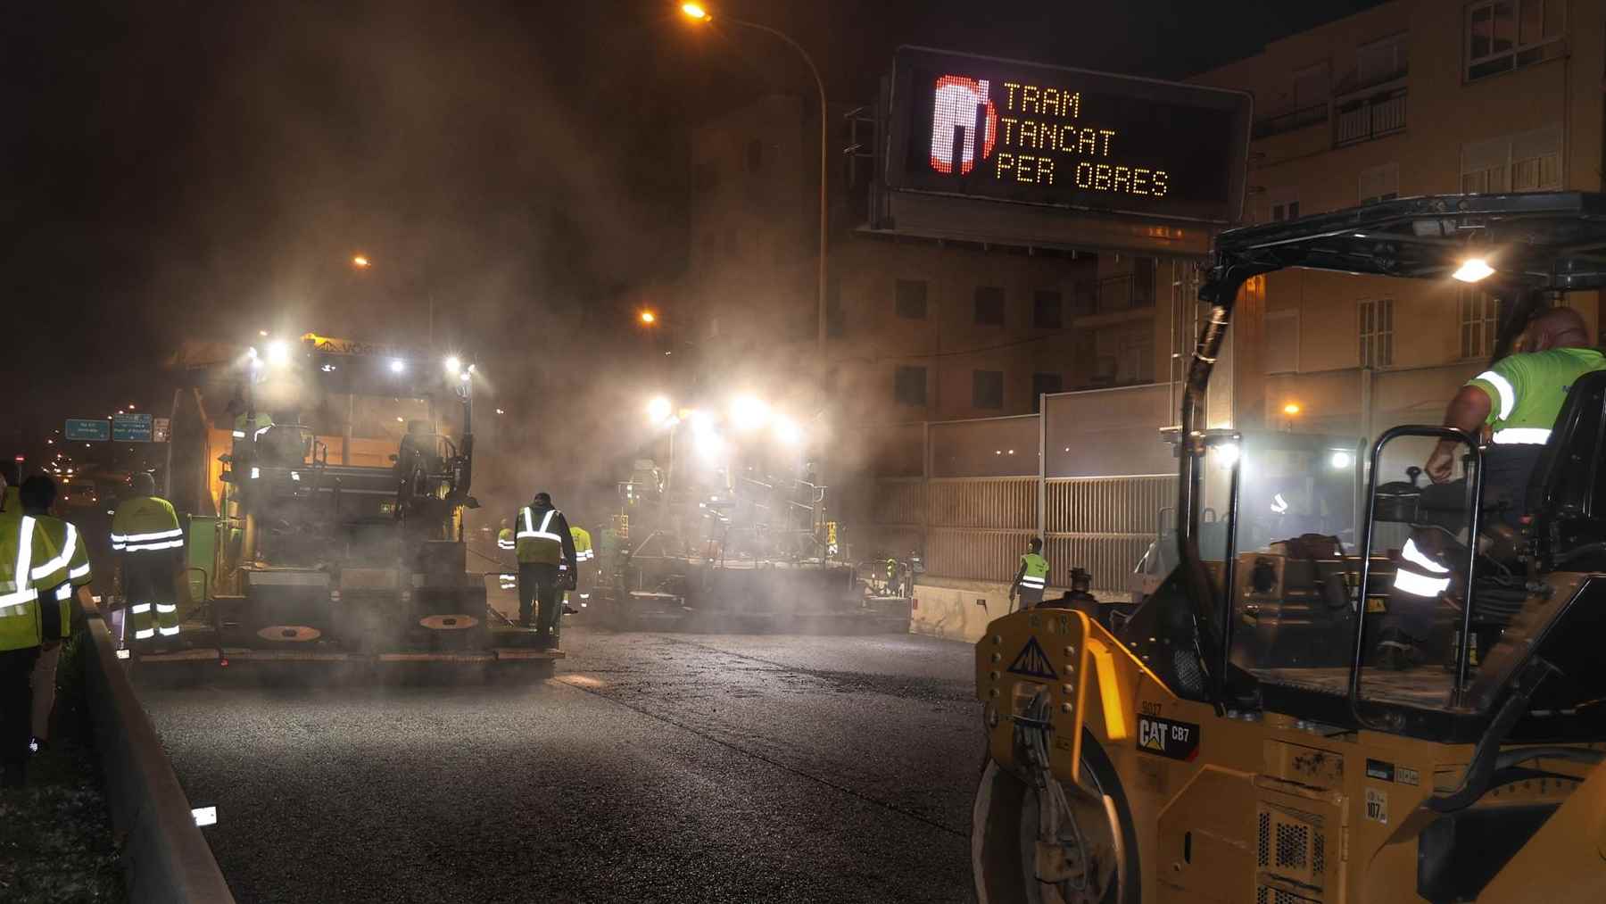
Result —
POLYGON ((1174 458, 1160 434, 1171 400, 1166 384, 1057 393, 1044 400, 1046 419, 901 429, 901 442, 928 443, 928 475, 877 477, 856 490, 856 551, 915 552, 933 576, 1009 581, 1028 540, 1042 536, 1055 586, 1081 567, 1095 589, 1124 591, 1176 499, 1174 458))

